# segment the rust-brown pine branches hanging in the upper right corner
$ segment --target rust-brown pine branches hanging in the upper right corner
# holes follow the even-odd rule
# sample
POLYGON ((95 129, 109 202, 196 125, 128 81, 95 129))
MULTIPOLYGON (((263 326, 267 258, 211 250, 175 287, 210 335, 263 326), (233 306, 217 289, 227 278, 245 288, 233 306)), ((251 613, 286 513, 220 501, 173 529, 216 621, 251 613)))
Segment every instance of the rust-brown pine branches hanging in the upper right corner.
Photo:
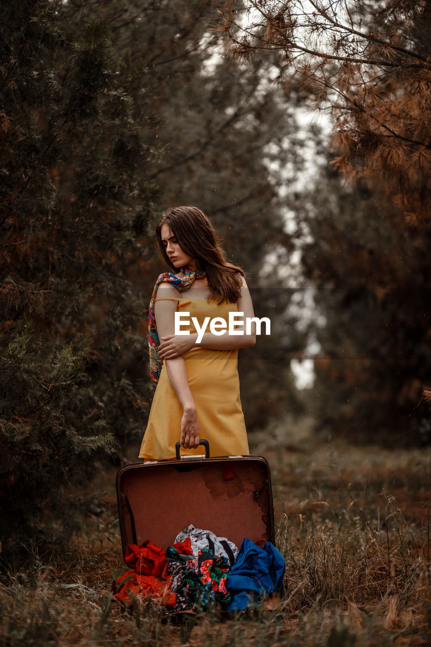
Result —
POLYGON ((335 167, 382 191, 412 225, 429 222, 429 3, 227 0, 221 29, 234 56, 277 52, 280 82, 331 113, 335 167))

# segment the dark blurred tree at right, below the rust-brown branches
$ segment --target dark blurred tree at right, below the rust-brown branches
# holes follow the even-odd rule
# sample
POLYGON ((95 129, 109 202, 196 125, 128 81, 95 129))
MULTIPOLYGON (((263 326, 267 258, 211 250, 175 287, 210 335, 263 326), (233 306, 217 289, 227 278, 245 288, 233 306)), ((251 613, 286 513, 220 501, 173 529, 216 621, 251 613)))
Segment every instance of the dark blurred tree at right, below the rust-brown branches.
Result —
MULTIPOLYGON (((299 201, 303 201, 300 197, 299 201)), ((406 228, 366 186, 325 171, 300 211, 304 275, 324 325, 310 394, 318 429, 384 444, 428 442, 430 232, 406 228)))

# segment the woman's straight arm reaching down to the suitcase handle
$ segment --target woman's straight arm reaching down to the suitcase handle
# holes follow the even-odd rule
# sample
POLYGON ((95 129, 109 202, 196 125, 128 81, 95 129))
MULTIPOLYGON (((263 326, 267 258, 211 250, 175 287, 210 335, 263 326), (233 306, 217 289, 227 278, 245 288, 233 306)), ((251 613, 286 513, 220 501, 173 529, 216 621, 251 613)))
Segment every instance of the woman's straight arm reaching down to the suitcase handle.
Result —
MULTIPOLYGON (((157 291, 158 297, 177 297, 177 291, 169 283, 160 283, 157 291)), ((175 330, 175 312, 177 301, 162 300, 156 301, 154 314, 157 323, 159 338, 173 334, 175 330)), ((186 362, 182 356, 170 360, 164 360, 166 371, 173 390, 182 406, 183 414, 181 419, 181 446, 185 449, 199 446, 199 422, 197 420, 196 405, 193 400, 192 391, 188 384, 186 362)))

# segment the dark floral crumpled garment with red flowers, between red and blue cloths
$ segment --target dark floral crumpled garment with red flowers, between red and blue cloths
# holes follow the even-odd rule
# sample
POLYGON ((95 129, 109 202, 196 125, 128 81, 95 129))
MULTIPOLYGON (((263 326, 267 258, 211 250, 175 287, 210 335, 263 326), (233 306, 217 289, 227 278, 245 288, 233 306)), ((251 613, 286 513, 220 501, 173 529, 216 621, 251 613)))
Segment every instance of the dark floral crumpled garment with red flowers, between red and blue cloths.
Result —
POLYGON ((169 547, 168 571, 173 575, 172 589, 177 594, 175 610, 207 609, 216 604, 228 604, 230 594, 226 590, 229 564, 224 557, 216 557, 210 551, 201 551, 197 558, 181 555, 175 547, 169 547))

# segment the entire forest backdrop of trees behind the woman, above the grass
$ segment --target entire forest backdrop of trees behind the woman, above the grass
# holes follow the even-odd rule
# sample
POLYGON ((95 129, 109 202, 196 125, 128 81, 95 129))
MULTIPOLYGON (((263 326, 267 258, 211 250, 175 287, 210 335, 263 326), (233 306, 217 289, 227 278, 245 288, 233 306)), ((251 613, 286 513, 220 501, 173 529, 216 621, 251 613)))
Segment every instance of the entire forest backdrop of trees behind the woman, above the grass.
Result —
POLYGON ((307 4, 1 2, 4 554, 137 456, 168 206, 208 214, 271 318, 240 353, 251 446, 429 443, 430 9, 307 4))

